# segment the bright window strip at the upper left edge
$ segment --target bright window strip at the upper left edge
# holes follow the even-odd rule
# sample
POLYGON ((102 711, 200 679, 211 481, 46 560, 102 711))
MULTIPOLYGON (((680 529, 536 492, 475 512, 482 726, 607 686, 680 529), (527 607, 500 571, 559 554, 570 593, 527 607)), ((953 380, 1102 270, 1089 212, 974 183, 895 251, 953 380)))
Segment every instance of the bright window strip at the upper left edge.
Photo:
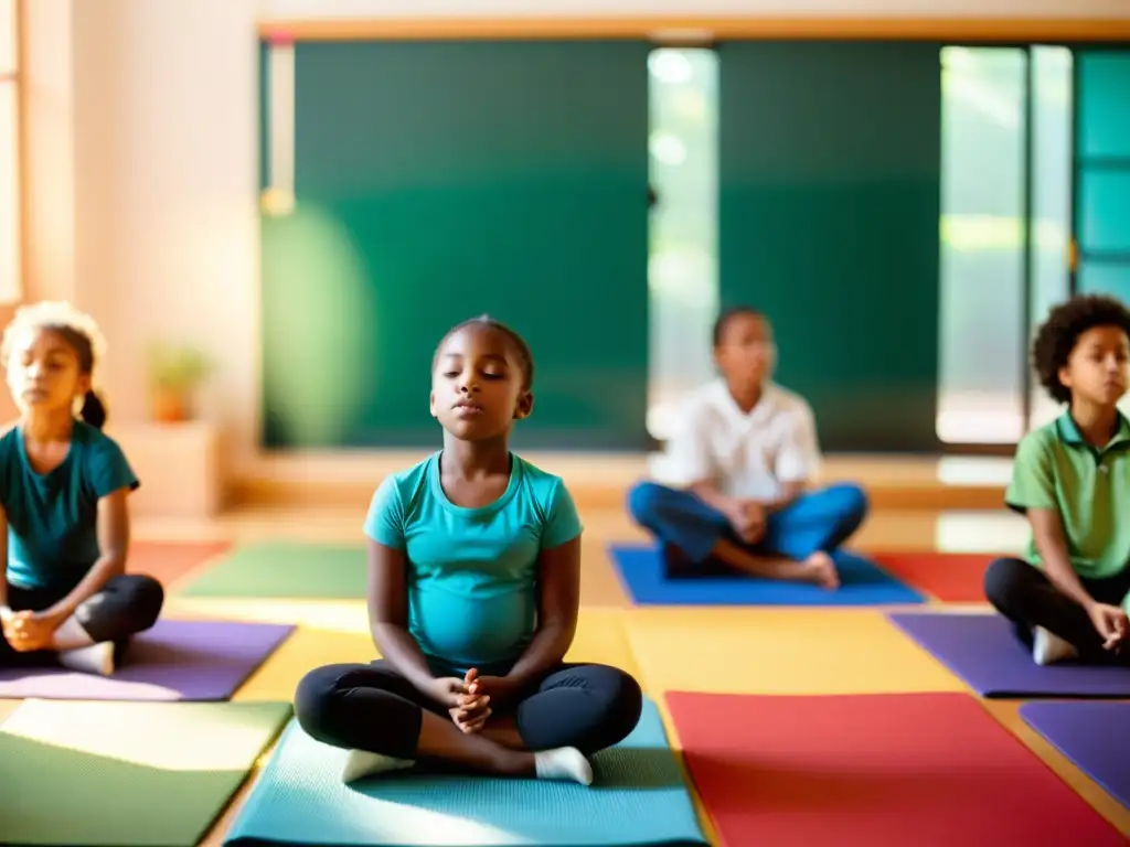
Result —
POLYGON ((20 297, 17 0, 0 0, 0 303, 20 297))

